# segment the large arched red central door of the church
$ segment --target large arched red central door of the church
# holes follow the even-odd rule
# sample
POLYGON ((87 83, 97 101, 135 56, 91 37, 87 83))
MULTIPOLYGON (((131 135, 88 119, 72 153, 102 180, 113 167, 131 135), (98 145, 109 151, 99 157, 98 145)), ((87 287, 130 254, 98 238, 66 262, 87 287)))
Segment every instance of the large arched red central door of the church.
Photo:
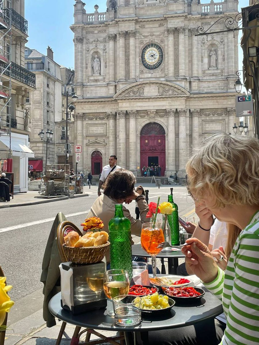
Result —
POLYGON ((165 130, 156 122, 146 124, 141 130, 140 164, 141 169, 160 165, 161 176, 165 174, 165 130))

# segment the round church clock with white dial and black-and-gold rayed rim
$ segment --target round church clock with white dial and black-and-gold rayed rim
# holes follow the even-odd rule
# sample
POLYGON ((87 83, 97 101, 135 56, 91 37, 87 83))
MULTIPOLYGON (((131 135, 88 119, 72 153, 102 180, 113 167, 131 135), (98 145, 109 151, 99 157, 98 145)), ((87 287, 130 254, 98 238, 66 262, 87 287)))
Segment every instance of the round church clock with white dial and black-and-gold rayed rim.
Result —
POLYGON ((141 52, 141 61, 147 69, 156 69, 163 62, 163 50, 156 43, 148 43, 141 52))

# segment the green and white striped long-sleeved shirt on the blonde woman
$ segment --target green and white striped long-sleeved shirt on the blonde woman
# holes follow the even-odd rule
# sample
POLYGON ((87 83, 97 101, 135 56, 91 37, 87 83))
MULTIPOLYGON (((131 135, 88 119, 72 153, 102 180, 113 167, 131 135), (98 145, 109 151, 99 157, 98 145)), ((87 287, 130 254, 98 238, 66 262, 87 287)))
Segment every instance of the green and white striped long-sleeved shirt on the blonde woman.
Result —
POLYGON ((259 211, 239 234, 225 273, 204 284, 222 299, 227 327, 222 345, 259 344, 259 211))

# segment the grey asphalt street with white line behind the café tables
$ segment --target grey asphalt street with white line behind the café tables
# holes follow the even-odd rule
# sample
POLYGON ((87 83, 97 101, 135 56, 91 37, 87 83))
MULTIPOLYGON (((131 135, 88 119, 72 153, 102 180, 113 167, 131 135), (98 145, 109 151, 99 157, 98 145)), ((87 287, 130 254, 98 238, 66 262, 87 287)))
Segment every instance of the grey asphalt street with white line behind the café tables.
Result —
MULTIPOLYGON (((167 194, 170 194, 170 186, 158 189, 154 185, 146 185, 144 189, 150 191, 150 201, 157 201, 158 196, 161 196, 161 202, 167 201, 167 194)), ((91 196, 0 210, 1 266, 8 277, 8 283, 13 285, 10 296, 16 301, 8 316, 11 328, 34 313, 41 318, 41 264, 52 222, 56 214, 62 211, 81 228, 80 223, 97 197, 97 186, 91 187, 89 192, 91 196)), ((193 221, 193 201, 185 187, 174 187, 174 201, 179 206, 179 215, 193 221)), ((135 203, 127 207, 135 215, 135 203)), ((135 243, 140 242, 137 237, 134 240, 135 243)))

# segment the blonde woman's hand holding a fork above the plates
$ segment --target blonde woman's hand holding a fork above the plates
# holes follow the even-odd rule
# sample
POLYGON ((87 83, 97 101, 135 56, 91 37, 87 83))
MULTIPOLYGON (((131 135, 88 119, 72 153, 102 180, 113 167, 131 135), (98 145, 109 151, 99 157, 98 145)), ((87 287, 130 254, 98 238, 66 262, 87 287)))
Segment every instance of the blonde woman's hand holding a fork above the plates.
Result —
POLYGON ((185 265, 187 265, 197 277, 204 283, 210 283, 218 275, 218 266, 209 251, 198 238, 188 238, 188 246, 182 247, 185 255, 185 265))

